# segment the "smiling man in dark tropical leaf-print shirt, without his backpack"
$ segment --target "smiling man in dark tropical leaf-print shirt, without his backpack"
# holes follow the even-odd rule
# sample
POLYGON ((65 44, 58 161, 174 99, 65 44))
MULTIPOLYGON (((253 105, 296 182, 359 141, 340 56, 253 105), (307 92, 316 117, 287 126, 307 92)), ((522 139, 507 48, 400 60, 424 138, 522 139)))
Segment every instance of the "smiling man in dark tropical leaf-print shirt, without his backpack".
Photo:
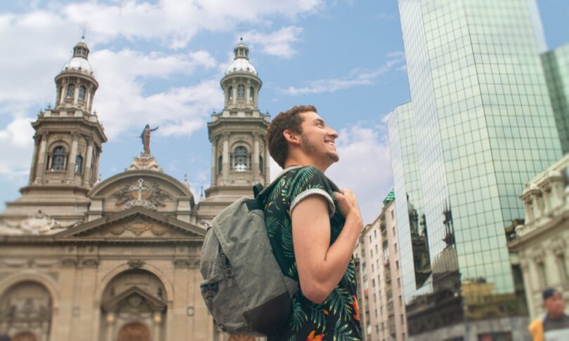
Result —
POLYGON ((337 137, 311 105, 281 112, 268 127, 270 156, 284 170, 266 200, 266 225, 283 274, 300 283, 288 325, 268 340, 362 339, 351 259, 360 209, 353 192, 324 175, 339 160, 337 137))

